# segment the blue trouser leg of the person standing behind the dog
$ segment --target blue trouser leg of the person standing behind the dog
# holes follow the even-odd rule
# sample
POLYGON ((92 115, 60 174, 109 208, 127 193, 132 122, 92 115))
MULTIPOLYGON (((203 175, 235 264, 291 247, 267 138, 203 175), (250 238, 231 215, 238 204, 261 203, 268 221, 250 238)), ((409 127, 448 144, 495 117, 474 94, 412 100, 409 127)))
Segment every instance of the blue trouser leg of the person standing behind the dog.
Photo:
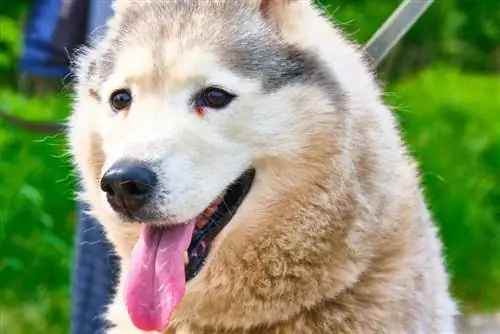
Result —
MULTIPOLYGON (((88 37, 102 36, 101 27, 111 13, 111 0, 90 0, 88 37)), ((80 203, 72 280, 72 334, 94 334, 106 327, 102 315, 113 297, 119 270, 100 224, 85 210, 85 204, 80 203)))

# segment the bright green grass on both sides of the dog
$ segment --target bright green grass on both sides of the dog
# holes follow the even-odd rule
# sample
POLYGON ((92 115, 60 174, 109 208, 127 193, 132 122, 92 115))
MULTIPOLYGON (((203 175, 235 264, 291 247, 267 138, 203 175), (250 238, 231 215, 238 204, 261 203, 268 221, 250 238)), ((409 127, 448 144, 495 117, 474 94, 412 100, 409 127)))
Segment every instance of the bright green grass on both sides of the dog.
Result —
MULTIPOLYGON (((453 292, 467 309, 500 307, 498 79, 434 69, 393 85, 404 135, 421 162, 453 292)), ((0 107, 61 120, 64 97, 0 91, 0 107)), ((62 136, 0 123, 0 332, 67 333, 74 180, 62 136)))

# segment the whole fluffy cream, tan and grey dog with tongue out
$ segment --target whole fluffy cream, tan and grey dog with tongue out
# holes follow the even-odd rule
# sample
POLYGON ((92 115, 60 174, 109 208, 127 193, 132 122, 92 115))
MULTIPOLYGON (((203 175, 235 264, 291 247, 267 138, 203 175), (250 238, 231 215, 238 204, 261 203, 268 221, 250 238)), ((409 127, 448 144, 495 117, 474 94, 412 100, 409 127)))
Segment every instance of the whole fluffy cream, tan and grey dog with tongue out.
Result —
POLYGON ((454 333, 416 165, 314 4, 114 7, 69 121, 121 257, 108 333, 454 333))

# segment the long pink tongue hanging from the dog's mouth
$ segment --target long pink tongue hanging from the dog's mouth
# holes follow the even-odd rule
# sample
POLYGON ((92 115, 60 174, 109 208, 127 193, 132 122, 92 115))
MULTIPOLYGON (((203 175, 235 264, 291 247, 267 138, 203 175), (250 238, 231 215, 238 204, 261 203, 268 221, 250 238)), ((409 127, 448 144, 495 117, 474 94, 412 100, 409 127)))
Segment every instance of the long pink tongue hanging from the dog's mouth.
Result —
POLYGON ((125 304, 137 328, 166 329, 184 295, 184 252, 191 242, 194 223, 142 228, 125 281, 125 304))

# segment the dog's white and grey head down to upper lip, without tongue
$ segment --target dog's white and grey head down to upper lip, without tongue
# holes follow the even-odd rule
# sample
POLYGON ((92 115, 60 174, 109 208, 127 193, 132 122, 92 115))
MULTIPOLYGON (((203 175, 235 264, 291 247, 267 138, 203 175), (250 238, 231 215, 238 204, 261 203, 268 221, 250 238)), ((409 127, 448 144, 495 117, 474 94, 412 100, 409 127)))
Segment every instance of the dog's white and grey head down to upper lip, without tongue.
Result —
POLYGON ((305 6, 117 1, 77 71, 70 138, 87 191, 122 219, 183 222, 266 159, 307 151, 331 123, 311 115, 338 90, 281 33, 305 6))

